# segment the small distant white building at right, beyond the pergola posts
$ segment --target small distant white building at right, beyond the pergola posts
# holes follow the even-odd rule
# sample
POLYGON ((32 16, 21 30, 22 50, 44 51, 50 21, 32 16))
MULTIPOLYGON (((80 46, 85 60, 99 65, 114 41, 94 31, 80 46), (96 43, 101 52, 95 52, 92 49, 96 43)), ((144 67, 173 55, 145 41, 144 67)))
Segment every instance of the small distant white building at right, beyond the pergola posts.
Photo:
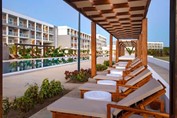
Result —
POLYGON ((163 49, 163 42, 148 42, 148 49, 163 49))

